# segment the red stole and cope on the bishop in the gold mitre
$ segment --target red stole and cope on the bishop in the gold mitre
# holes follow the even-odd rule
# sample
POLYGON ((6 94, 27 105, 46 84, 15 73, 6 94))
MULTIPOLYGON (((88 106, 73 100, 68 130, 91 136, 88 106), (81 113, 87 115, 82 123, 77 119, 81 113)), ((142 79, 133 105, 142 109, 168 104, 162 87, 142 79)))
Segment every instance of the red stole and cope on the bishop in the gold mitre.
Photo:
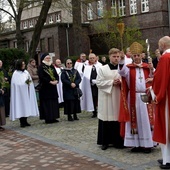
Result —
MULTIPOLYGON (((122 122, 127 122, 131 121, 131 133, 132 134, 137 134, 137 122, 136 122, 136 65, 134 64, 129 64, 127 67, 130 69, 130 89, 127 88, 127 84, 125 83, 125 80, 123 78, 122 81, 122 89, 121 89, 121 108, 120 108, 120 116, 119 116, 119 121, 121 122, 121 136, 124 136, 125 132, 125 125, 122 125, 122 122), (127 94, 128 90, 130 90, 130 113, 126 109, 128 108, 127 105, 127 94), (123 105, 122 105, 123 103, 123 105), (123 107, 123 108, 122 108, 123 107), (129 116, 128 116, 129 114, 129 116)), ((144 76, 145 79, 149 77, 149 68, 148 64, 143 63, 141 65, 141 68, 144 71, 144 76)), ((149 84, 146 85, 148 87, 149 84)), ((142 102, 142 101, 141 101, 142 102)), ((148 104, 148 115, 149 115, 149 120, 150 124, 153 125, 153 105, 148 104)), ((125 124, 125 123, 124 123, 125 124)))

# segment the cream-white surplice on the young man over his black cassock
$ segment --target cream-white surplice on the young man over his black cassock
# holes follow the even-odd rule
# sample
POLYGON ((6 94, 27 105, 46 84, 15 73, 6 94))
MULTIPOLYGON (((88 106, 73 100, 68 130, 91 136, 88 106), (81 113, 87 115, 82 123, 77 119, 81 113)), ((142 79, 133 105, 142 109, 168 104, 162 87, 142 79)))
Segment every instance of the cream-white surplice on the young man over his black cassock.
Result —
POLYGON ((98 119, 117 121, 120 105, 120 86, 113 86, 114 79, 120 78, 118 70, 111 70, 109 65, 99 68, 96 78, 98 87, 98 119))

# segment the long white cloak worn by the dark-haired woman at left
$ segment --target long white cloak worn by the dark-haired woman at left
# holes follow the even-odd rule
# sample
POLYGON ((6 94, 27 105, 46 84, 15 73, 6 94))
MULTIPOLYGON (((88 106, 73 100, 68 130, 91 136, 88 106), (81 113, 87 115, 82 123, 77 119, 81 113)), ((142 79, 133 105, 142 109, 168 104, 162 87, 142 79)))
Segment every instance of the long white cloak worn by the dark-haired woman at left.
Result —
MULTIPOLYGON (((38 116, 39 110, 33 82, 25 83, 31 76, 27 70, 14 71, 11 79, 10 120, 38 116)), ((31 79, 32 80, 32 79, 31 79)))

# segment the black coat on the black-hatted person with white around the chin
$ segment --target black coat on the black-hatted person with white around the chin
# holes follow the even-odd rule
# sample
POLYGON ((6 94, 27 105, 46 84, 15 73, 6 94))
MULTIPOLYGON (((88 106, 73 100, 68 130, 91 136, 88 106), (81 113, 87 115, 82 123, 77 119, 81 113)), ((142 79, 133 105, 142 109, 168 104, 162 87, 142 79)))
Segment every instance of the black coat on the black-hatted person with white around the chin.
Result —
POLYGON ((38 68, 38 76, 40 81, 39 97, 40 99, 57 99, 58 92, 56 85, 52 85, 49 82, 52 81, 50 75, 45 71, 45 69, 51 68, 53 75, 57 81, 59 81, 59 76, 53 65, 47 66, 42 63, 38 68))

